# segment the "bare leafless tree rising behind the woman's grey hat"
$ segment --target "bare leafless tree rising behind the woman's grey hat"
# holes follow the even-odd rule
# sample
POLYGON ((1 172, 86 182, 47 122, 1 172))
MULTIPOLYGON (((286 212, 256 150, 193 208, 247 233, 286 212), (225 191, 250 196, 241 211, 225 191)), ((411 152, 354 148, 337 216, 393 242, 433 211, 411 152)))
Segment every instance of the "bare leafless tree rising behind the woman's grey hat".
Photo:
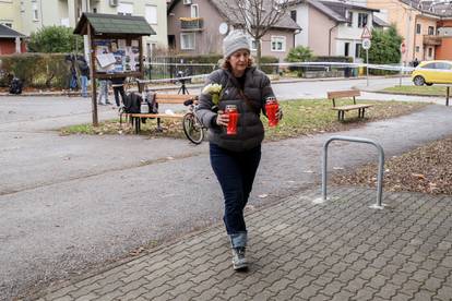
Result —
POLYGON ((226 12, 225 17, 235 27, 245 29, 255 41, 255 63, 261 62, 261 39, 279 24, 292 0, 217 0, 226 12))

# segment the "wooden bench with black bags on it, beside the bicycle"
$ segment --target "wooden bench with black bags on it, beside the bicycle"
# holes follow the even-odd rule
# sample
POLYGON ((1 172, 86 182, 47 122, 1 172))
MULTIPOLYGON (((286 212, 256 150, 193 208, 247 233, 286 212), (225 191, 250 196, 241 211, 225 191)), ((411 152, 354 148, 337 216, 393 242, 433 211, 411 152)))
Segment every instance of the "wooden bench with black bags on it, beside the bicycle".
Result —
MULTIPOLYGON (((198 96, 189 94, 156 94, 155 101, 157 104, 183 104, 186 100, 197 99, 198 96)), ((182 119, 185 113, 124 113, 126 118, 129 118, 130 123, 135 128, 135 134, 141 131, 141 121, 147 118, 157 119, 157 131, 162 131, 160 119, 162 118, 175 118, 182 119)), ((122 122, 122 121, 121 121, 122 122)))

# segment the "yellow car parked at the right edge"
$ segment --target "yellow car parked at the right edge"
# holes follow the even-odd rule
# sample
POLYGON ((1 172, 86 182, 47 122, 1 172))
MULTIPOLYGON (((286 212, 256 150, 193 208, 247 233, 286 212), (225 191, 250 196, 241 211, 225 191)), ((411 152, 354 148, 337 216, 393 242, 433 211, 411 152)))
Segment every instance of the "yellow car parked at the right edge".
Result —
POLYGON ((452 84, 452 61, 424 61, 412 73, 416 86, 452 84))

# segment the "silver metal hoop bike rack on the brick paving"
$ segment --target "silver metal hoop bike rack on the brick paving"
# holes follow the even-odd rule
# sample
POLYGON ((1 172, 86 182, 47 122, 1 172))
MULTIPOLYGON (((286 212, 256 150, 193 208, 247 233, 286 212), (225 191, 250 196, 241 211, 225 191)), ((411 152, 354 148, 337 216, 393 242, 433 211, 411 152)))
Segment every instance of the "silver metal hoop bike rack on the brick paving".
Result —
POLYGON ((347 141, 367 143, 377 147, 379 154, 379 167, 378 167, 378 183, 377 183, 377 203, 371 205, 371 208, 382 209, 384 204, 381 203, 383 194, 383 171, 384 171, 384 150, 380 144, 369 139, 349 137, 349 136, 332 136, 323 144, 323 160, 322 160, 322 198, 316 203, 323 203, 326 201, 326 160, 328 160, 328 146, 332 141, 347 141))

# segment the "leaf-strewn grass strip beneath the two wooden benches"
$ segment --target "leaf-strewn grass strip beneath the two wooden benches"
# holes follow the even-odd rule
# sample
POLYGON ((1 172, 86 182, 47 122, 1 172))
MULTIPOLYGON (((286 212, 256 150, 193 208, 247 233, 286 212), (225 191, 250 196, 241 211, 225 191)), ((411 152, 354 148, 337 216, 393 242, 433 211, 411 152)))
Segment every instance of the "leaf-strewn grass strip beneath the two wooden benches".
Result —
MULTIPOLYGON (((350 104, 347 100, 336 101, 337 106, 350 104)), ((277 141, 287 137, 309 135, 324 132, 346 131, 369 121, 394 118, 416 111, 428 104, 425 103, 403 103, 403 101, 359 101, 359 104, 372 104, 373 107, 366 111, 365 119, 358 119, 357 111, 345 113, 345 121, 337 121, 336 111, 331 110, 331 101, 325 99, 302 99, 282 101, 284 118, 276 128, 269 128, 267 120, 262 116, 265 127, 265 139, 277 141)), ((141 125, 141 135, 151 137, 174 137, 186 139, 180 120, 162 119, 163 132, 156 131, 156 120, 146 120, 141 125)), ((130 123, 120 125, 119 119, 100 122, 98 127, 92 124, 79 124, 66 127, 60 130, 62 135, 70 134, 133 134, 130 123)))

